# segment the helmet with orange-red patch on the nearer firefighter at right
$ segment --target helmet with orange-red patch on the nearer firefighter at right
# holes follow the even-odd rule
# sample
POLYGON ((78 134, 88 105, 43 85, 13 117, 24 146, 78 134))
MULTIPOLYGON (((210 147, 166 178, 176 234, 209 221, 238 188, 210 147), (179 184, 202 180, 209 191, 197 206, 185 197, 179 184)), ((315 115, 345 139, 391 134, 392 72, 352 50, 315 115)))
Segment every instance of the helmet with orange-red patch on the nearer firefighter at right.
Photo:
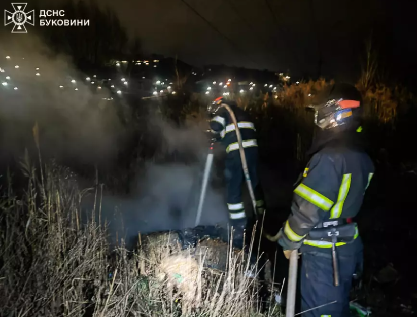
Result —
POLYGON ((361 93, 350 84, 335 84, 325 92, 324 102, 315 105, 314 123, 321 129, 344 126, 356 129, 360 125, 361 93), (326 96, 327 95, 327 96, 326 96))

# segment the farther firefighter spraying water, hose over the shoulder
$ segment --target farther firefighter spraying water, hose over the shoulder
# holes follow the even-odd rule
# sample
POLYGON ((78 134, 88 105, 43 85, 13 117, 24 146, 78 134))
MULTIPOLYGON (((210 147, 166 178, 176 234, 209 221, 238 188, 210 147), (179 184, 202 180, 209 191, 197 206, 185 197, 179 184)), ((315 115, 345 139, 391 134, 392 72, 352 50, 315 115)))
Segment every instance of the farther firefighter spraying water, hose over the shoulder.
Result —
MULTIPOLYGON (((242 185, 245 183, 244 170, 240 158, 239 144, 235 131, 235 125, 226 108, 222 104, 226 103, 223 97, 217 98, 209 105, 210 132, 226 150, 225 159, 225 179, 227 190, 227 206, 229 210, 230 223, 234 228, 233 245, 235 248, 244 249, 244 231, 247 225, 247 213, 245 212, 242 200, 242 185)), ((227 105, 233 111, 237 125, 242 136, 242 145, 245 149, 249 175, 256 198, 257 214, 262 215, 265 206, 260 189, 257 165, 258 165, 258 143, 256 140, 255 126, 251 122, 249 114, 237 107, 233 101, 228 101, 227 105)))

